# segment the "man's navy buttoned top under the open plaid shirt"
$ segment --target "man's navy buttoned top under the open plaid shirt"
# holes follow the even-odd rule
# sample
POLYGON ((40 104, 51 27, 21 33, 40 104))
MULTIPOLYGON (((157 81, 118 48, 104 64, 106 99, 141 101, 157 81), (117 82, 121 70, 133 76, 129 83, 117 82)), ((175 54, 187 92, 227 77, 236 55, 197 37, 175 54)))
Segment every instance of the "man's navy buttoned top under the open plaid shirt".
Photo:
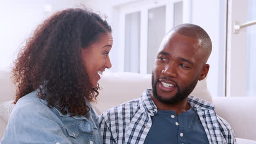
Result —
POLYGON ((179 113, 158 110, 144 143, 209 143, 205 129, 193 108, 179 113))

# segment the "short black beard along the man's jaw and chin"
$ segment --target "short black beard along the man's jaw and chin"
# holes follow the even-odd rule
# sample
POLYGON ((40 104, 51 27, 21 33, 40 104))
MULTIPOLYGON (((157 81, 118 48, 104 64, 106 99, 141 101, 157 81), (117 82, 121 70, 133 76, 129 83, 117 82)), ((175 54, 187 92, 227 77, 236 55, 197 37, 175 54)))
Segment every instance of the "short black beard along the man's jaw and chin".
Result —
POLYGON ((164 99, 162 98, 160 95, 158 95, 157 91, 156 91, 156 85, 158 83, 158 81, 154 82, 154 74, 152 73, 152 90, 153 90, 153 96, 160 101, 161 103, 167 104, 167 105, 173 105, 173 104, 177 104, 180 101, 184 100, 185 98, 188 97, 188 95, 194 90, 197 81, 198 81, 199 77, 197 76, 196 79, 190 83, 187 87, 185 87, 183 90, 181 90, 181 88, 179 88, 179 86, 177 85, 177 93, 172 97, 172 98, 167 98, 164 99))

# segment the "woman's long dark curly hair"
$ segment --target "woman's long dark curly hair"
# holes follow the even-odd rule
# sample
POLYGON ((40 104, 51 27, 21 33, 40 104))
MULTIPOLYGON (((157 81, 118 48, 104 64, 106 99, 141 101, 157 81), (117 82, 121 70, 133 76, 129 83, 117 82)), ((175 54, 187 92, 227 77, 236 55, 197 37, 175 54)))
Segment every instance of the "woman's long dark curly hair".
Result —
MULTIPOLYGON (((66 9, 46 19, 19 52, 13 68, 17 101, 39 89, 38 97, 63 114, 85 116, 98 95, 83 63, 82 49, 111 32, 106 20, 86 9, 66 9)), ((86 62, 85 62, 86 63, 86 62)))

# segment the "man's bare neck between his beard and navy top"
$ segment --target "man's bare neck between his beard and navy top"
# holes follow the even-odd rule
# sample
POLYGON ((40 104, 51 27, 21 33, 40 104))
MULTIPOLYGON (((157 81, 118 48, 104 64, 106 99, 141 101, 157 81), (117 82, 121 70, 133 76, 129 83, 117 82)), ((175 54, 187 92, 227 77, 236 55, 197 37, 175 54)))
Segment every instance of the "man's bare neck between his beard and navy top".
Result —
POLYGON ((183 113, 190 109, 190 106, 187 101, 188 98, 185 98, 184 100, 180 101, 177 104, 164 104, 158 101, 155 97, 152 96, 152 100, 154 101, 156 107, 158 107, 158 110, 165 110, 165 111, 175 111, 176 115, 179 113, 183 113))

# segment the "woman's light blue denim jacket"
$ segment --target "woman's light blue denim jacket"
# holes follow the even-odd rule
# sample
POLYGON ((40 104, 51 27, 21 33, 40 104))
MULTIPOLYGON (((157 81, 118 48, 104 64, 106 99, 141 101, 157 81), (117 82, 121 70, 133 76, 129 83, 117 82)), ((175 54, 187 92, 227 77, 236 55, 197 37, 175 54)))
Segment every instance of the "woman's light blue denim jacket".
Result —
POLYGON ((5 143, 102 143, 98 115, 89 104, 86 117, 63 115, 37 97, 37 91, 20 98, 11 112, 5 143))

